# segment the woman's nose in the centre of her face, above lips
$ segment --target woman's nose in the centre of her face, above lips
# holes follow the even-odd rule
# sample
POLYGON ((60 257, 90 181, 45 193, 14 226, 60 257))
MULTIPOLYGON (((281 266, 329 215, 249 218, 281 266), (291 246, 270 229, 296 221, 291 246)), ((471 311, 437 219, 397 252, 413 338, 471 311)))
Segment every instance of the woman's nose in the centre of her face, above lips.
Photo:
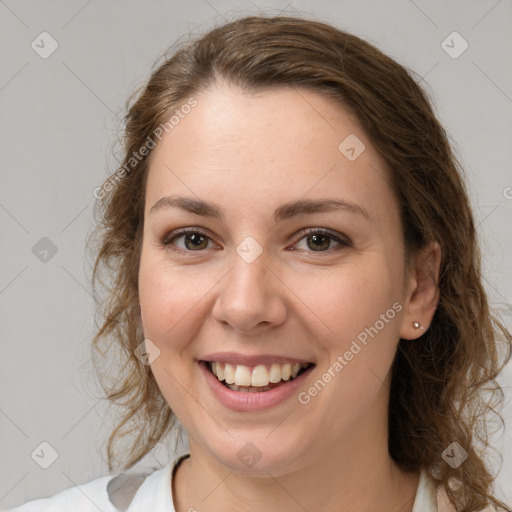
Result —
POLYGON ((235 254, 233 268, 220 282, 212 316, 237 332, 259 334, 284 322, 285 290, 265 253, 251 263, 235 254))

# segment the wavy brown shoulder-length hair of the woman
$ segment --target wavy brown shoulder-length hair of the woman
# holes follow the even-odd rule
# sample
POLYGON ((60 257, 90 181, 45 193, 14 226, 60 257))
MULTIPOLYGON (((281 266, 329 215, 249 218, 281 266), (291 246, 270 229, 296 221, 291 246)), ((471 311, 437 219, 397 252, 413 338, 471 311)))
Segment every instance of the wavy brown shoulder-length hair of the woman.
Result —
POLYGON ((459 511, 487 505, 510 511, 493 496, 495 476, 484 456, 491 446, 486 416, 494 413, 503 423, 498 407, 504 394, 495 379, 510 358, 512 335, 491 315, 462 166, 412 71, 359 37, 300 17, 246 16, 180 43, 163 63, 155 63, 149 81, 127 101, 124 160, 116 178, 102 186, 109 193, 97 201, 93 232, 98 247, 92 286, 95 297, 98 282, 106 292, 96 299, 101 325, 93 348, 101 359, 95 367, 106 398, 122 406, 108 439, 109 469, 118 461, 125 470, 132 467, 177 425, 150 366, 134 354, 144 339, 138 270, 152 154, 141 156, 140 149, 193 94, 220 80, 248 94, 307 88, 332 98, 362 123, 389 168, 406 270, 410 256, 427 243, 438 241, 442 250, 439 303, 430 328, 414 342, 400 339, 392 364, 390 456, 405 471, 425 468, 459 511), (503 364, 499 341, 507 354, 503 364), (114 361, 105 352, 112 347, 121 363, 113 384, 106 382, 112 365, 102 367, 114 361), (132 438, 130 444, 118 452, 116 442, 125 436, 132 438), (456 468, 441 457, 454 441, 467 452, 456 468))

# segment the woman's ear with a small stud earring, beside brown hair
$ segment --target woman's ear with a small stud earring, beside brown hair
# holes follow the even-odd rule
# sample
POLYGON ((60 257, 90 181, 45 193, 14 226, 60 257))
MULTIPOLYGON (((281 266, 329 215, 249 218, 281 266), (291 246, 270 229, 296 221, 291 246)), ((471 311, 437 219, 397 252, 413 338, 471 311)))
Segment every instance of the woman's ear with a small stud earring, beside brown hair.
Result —
POLYGON ((411 256, 411 271, 404 286, 404 312, 400 324, 400 337, 414 340, 429 328, 439 303, 439 271, 441 246, 434 241, 411 256), (418 322, 421 328, 415 328, 418 322))

